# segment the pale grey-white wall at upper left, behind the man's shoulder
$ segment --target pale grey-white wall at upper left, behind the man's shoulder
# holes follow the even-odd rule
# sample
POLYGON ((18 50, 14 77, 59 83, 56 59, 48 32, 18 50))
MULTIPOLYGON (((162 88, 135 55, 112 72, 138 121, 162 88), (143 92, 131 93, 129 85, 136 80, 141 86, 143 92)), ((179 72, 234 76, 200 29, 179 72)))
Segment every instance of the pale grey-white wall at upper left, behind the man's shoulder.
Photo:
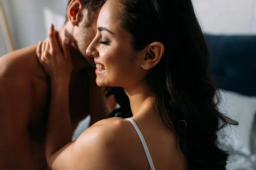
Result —
MULTIPOLYGON (((44 40, 51 23, 63 26, 68 0, 2 0, 15 49, 44 40)), ((0 56, 6 54, 0 33, 0 56)))

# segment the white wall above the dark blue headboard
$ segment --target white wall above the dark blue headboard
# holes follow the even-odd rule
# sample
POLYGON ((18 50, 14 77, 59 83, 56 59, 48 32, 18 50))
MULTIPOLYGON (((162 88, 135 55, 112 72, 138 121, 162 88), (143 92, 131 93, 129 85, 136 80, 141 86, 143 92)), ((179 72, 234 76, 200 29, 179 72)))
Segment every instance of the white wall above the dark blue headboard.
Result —
POLYGON ((193 0, 206 33, 256 34, 256 0, 193 0))

